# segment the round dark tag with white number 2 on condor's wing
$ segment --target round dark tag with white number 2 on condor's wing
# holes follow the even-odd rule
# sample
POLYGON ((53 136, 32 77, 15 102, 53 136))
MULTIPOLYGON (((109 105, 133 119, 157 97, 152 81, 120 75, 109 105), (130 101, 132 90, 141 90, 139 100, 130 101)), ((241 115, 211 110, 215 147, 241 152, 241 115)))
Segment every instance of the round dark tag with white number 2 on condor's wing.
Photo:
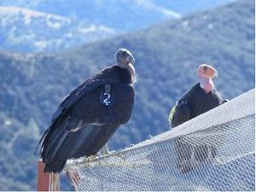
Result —
POLYGON ((113 106, 113 104, 115 103, 115 100, 116 99, 113 94, 113 91, 111 91, 110 84, 105 84, 100 94, 100 102, 104 106, 113 106))

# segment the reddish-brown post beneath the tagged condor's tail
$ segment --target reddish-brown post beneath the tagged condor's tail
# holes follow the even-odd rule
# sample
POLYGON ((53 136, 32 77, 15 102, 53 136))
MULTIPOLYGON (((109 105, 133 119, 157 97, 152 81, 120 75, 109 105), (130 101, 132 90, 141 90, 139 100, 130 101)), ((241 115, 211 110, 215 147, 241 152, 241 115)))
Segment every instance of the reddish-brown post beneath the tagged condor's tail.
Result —
POLYGON ((38 191, 49 191, 49 173, 44 172, 42 160, 38 160, 38 191))

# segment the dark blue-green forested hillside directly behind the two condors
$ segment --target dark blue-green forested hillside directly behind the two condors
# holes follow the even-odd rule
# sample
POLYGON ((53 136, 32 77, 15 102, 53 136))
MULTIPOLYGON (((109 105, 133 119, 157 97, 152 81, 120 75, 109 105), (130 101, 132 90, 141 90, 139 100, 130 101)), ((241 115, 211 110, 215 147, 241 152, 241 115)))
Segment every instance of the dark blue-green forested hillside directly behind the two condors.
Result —
POLYGON ((0 189, 35 189, 32 152, 38 134, 49 125, 61 98, 112 64, 121 47, 136 59, 137 96, 131 120, 113 136, 111 149, 166 131, 170 108, 196 83, 195 70, 201 63, 218 69, 214 82, 221 96, 231 99, 252 89, 254 7, 253 0, 241 0, 58 54, 1 52, 0 150, 6 155, 0 159, 0 189), (9 181, 19 182, 18 187, 9 181))

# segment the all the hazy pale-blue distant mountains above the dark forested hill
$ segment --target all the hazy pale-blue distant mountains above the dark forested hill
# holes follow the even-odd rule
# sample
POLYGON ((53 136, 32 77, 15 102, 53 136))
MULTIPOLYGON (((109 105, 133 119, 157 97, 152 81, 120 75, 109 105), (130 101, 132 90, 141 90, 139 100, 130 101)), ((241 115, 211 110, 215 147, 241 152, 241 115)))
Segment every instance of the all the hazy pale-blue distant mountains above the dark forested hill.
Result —
POLYGON ((20 52, 72 49, 231 1, 234 0, 214 3, 212 0, 3 0, 0 49, 20 52), (29 13, 33 15, 28 16, 29 13))

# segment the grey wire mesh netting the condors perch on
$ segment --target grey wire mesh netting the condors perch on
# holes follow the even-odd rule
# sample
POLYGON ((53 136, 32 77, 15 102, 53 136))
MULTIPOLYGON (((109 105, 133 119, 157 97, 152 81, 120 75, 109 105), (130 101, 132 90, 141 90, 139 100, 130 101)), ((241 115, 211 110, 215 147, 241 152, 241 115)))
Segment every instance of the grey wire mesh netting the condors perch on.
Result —
POLYGON ((65 171, 75 190, 255 191, 254 89, 131 148, 65 171))

